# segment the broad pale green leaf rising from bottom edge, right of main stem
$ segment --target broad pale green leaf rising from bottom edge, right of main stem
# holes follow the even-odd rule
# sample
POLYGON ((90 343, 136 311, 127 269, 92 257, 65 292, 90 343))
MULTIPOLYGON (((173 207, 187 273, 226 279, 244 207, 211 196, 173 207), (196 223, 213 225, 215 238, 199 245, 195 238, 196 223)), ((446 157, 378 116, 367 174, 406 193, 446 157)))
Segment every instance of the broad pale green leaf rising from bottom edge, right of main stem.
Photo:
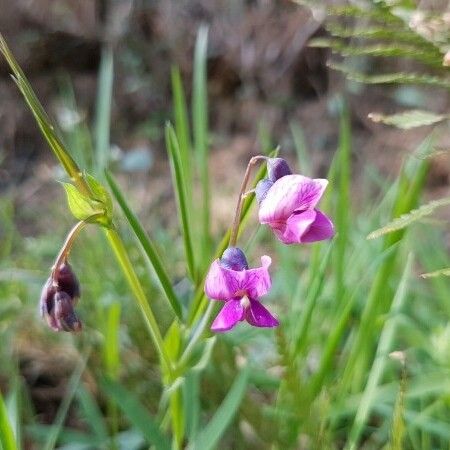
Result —
POLYGON ((230 391, 217 409, 213 418, 197 435, 189 450, 212 450, 235 416, 247 389, 250 369, 246 367, 231 386, 230 391))

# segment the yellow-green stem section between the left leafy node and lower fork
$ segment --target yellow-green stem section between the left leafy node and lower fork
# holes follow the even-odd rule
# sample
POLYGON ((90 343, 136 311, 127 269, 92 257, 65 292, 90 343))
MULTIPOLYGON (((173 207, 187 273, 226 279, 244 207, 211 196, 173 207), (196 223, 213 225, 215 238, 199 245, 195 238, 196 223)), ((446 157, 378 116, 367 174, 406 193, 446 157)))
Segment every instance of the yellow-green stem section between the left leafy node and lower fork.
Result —
POLYGON ((159 331, 158 323, 156 322, 153 311, 147 301, 139 278, 137 277, 136 272, 133 269, 133 265, 131 264, 131 261, 128 257, 122 239, 114 228, 106 230, 106 237, 108 238, 108 241, 112 249, 114 250, 116 258, 122 268, 128 284, 130 285, 130 288, 133 291, 134 296, 136 297, 138 305, 141 308, 145 323, 147 324, 147 327, 150 331, 150 336, 152 337, 161 362, 164 364, 168 374, 171 375, 172 365, 167 353, 164 350, 163 338, 161 332, 159 331))

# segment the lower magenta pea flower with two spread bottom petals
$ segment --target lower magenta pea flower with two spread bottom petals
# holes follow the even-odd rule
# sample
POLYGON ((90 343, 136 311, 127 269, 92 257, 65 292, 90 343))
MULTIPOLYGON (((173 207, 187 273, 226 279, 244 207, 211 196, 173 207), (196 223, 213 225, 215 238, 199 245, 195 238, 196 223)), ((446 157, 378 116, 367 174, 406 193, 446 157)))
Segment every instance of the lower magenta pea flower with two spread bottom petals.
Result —
POLYGON ((246 320, 255 327, 276 327, 278 320, 261 304, 259 298, 271 287, 268 268, 272 260, 261 258, 262 267, 248 268, 241 249, 229 247, 209 269, 205 293, 212 300, 225 302, 211 325, 215 332, 231 330, 246 320))

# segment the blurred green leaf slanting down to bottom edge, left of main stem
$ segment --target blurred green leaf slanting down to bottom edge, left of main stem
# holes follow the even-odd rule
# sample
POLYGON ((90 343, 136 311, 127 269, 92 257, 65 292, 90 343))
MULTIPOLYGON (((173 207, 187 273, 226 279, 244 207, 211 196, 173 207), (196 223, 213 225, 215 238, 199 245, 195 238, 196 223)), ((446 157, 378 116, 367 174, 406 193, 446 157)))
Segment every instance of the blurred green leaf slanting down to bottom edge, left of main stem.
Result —
POLYGON ((103 379, 100 385, 106 395, 119 406, 126 418, 142 433, 149 444, 153 444, 158 450, 170 450, 169 440, 160 431, 158 423, 133 393, 120 383, 110 379, 103 379))

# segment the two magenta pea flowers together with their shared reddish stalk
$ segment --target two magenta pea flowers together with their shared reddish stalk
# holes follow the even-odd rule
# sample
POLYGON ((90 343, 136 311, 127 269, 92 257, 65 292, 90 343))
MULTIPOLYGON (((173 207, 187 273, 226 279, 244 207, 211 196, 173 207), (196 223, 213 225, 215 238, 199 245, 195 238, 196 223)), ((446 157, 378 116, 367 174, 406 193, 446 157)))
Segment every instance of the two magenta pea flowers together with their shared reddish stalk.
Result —
MULTIPOLYGON (((259 221, 268 225, 284 244, 303 244, 332 238, 333 223, 316 208, 328 181, 292 174, 282 158, 264 159, 268 176, 255 188, 259 221)), ((225 302, 211 325, 211 330, 215 332, 229 331, 243 320, 255 327, 278 325, 278 320, 260 302, 260 297, 267 294, 271 287, 268 271, 271 258, 263 256, 261 267, 249 269, 243 251, 235 246, 241 204, 246 195, 243 190, 252 161, 255 160, 250 161, 244 177, 230 247, 220 259, 212 263, 206 277, 206 295, 211 300, 225 302)))

